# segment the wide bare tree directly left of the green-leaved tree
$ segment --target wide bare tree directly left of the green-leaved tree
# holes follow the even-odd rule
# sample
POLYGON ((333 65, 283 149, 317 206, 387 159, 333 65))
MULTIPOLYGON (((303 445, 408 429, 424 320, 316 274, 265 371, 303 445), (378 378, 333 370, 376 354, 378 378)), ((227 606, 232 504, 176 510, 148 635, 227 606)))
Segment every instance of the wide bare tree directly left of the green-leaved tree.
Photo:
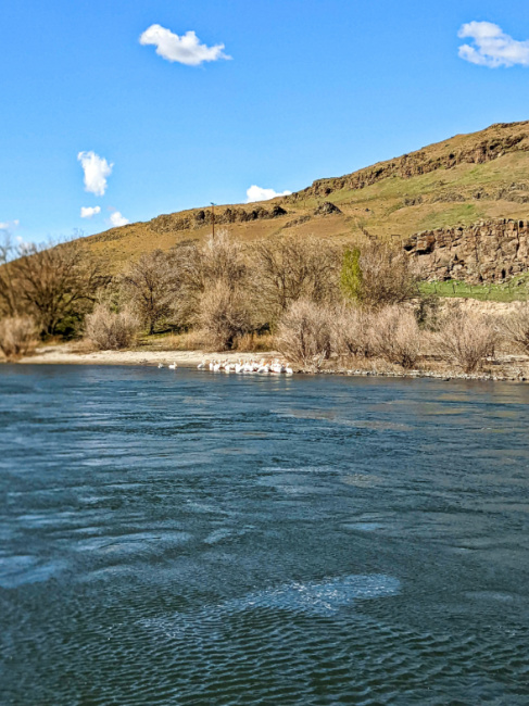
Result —
POLYGON ((314 237, 276 236, 253 247, 259 299, 273 317, 300 299, 329 302, 338 297, 340 253, 314 237))

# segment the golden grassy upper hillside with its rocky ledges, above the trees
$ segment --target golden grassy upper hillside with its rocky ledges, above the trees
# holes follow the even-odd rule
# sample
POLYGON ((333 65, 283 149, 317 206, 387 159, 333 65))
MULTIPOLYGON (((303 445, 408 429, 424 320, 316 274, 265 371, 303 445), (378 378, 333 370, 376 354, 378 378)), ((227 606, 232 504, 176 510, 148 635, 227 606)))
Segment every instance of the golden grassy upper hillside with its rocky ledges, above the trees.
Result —
MULTIPOLYGON (((499 217, 529 218, 529 121, 457 135, 345 176, 318 179, 289 197, 215 209, 216 224, 245 240, 277 232, 404 239, 499 217)), ((210 232, 211 210, 193 209, 112 228, 86 242, 117 268, 141 252, 210 232)))

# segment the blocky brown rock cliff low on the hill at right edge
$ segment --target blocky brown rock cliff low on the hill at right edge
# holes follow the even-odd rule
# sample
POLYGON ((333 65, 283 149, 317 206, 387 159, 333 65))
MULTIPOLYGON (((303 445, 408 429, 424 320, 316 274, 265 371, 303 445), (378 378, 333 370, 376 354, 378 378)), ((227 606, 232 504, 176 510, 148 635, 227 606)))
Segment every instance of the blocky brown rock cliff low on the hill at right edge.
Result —
POLYGON ((408 238, 404 251, 425 279, 503 281, 529 269, 529 220, 502 218, 425 230, 408 238))

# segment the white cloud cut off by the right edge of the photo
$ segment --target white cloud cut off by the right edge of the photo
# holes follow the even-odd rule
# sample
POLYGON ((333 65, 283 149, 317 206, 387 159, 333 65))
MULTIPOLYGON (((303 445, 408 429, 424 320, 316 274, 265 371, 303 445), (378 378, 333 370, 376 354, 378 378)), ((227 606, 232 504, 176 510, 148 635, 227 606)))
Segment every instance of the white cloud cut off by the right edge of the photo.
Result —
POLYGON ((471 64, 489 66, 529 66, 529 41, 518 41, 492 22, 469 22, 458 31, 462 39, 470 38, 474 46, 462 45, 459 56, 471 64))

